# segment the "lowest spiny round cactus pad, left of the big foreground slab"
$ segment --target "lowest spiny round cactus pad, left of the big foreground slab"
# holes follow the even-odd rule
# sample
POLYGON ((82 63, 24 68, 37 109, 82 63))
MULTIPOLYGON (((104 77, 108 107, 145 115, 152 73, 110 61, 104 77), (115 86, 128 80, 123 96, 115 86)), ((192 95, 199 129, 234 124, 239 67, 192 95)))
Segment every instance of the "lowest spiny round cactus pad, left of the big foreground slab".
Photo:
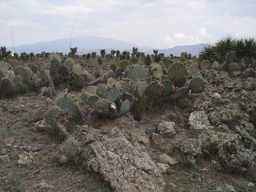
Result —
POLYGON ((63 153, 66 157, 74 159, 79 153, 79 146, 77 140, 68 138, 63 143, 63 153))

